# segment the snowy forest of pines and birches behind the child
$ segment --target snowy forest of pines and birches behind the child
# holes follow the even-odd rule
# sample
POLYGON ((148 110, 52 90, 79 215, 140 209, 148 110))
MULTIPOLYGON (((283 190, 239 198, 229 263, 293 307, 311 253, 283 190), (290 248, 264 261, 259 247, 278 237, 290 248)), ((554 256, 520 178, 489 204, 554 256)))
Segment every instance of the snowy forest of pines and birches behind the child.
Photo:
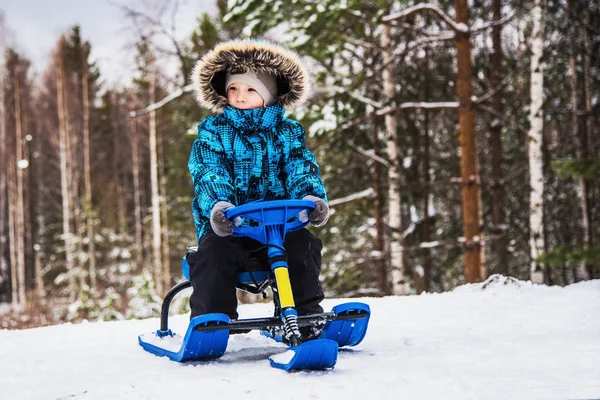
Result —
POLYGON ((195 242, 190 72, 242 37, 310 66, 288 116, 328 189, 328 296, 598 278, 600 1, 218 0, 185 40, 178 1, 127 4, 118 85, 80 25, 34 75, 0 14, 0 327, 158 315, 195 242))

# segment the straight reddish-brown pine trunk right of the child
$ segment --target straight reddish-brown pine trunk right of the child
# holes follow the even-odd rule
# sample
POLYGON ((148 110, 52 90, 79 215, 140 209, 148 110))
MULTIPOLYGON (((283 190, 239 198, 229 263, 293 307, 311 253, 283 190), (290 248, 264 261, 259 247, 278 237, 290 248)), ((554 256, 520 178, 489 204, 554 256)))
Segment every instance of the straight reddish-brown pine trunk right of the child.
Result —
MULTIPOLYGON (((454 2, 456 22, 469 25, 467 0, 454 2)), ((461 153, 462 209, 465 248, 465 280, 469 283, 481 280, 481 246, 479 206, 479 183, 477 172, 477 146, 475 113, 473 112, 473 83, 471 80, 471 44, 468 32, 456 32, 458 124, 461 153)))

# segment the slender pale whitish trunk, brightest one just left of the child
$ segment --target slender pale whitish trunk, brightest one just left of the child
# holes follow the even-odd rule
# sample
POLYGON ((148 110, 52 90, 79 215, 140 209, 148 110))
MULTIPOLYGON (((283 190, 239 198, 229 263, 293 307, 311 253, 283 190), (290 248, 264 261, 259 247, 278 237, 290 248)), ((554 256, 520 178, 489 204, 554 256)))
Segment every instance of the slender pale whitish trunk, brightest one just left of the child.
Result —
MULTIPOLYGON (((151 102, 156 102, 156 72, 150 77, 151 102)), ((161 227, 160 227, 160 194, 158 190, 158 149, 156 143, 156 110, 150 111, 150 186, 152 192, 152 266, 157 293, 163 293, 163 274, 161 268, 161 227)))

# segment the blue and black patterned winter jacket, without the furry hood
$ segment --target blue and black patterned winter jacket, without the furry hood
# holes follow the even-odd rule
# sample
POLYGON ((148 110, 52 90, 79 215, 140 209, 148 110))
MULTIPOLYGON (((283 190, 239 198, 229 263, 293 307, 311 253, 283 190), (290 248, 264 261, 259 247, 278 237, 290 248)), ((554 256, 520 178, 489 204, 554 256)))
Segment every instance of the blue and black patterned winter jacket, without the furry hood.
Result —
POLYGON ((279 103, 251 110, 226 106, 200 122, 188 162, 198 242, 211 229, 210 214, 218 201, 242 205, 309 194, 327 201, 304 130, 284 113, 279 103))

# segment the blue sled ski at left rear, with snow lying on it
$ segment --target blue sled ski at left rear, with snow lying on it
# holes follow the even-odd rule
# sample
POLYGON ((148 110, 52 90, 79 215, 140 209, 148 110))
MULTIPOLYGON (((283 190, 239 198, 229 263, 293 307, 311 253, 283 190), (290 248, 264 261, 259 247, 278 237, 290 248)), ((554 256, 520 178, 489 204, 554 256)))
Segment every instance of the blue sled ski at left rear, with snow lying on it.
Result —
POLYGON ((169 329, 140 335, 138 341, 144 350, 173 361, 219 358, 227 348, 229 329, 210 330, 210 327, 222 324, 229 325, 229 317, 225 314, 200 315, 192 318, 183 338, 169 329))

